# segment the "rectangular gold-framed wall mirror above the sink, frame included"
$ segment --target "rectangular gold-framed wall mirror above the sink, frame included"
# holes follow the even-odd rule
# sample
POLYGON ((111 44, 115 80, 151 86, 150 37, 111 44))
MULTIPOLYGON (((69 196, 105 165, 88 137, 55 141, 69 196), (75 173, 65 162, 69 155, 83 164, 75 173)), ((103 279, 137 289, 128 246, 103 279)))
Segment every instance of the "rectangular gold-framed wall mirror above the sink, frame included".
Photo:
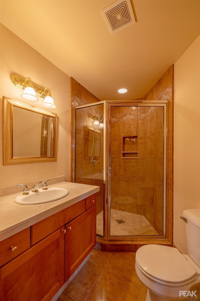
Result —
POLYGON ((3 165, 57 161, 57 114, 3 96, 3 165))

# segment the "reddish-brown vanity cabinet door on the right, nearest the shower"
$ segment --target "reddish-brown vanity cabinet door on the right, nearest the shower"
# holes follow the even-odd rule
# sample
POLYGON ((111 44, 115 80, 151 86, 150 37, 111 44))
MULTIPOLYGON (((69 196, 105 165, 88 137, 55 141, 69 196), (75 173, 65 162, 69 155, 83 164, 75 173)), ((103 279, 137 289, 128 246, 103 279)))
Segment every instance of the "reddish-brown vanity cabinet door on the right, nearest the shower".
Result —
POLYGON ((96 246, 96 206, 65 226, 65 281, 96 246))

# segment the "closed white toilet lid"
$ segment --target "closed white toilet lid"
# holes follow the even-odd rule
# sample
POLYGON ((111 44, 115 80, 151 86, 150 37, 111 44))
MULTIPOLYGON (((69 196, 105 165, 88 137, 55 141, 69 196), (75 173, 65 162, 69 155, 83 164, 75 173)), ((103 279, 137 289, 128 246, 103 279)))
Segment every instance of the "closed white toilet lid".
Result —
POLYGON ((145 273, 164 282, 184 282, 196 274, 183 255, 168 246, 142 246, 136 252, 136 261, 145 273))

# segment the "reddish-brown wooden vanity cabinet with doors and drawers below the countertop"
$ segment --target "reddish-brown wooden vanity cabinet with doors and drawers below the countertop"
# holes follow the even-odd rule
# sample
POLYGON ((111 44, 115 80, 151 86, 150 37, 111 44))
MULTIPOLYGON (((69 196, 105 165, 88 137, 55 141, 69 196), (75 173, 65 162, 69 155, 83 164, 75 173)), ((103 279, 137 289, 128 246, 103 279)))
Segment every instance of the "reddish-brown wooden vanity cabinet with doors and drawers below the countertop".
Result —
POLYGON ((96 194, 1 242, 2 301, 53 298, 96 245, 95 204, 96 194))

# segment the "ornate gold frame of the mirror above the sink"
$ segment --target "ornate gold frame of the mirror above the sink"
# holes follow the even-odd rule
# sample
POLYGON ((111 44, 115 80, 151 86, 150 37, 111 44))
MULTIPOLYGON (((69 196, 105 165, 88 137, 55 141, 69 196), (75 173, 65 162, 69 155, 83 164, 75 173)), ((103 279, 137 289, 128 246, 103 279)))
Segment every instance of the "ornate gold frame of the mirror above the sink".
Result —
MULTIPOLYGON (((28 126, 27 126, 28 127, 28 126)), ((26 129, 25 129, 26 130, 26 129)), ((24 132, 22 134, 24 145, 28 144, 32 137, 30 133, 24 132)), ((57 114, 52 113, 42 108, 36 108, 27 103, 22 103, 17 100, 3 96, 3 165, 12 164, 25 164, 25 163, 38 163, 38 162, 53 162, 57 161, 57 114), (43 116, 51 117, 51 151, 50 155, 47 155, 45 146, 43 146, 44 137, 42 137, 42 127, 41 123, 41 135, 38 137, 38 143, 40 143, 40 156, 23 156, 23 157, 13 157, 13 108, 21 108, 34 113, 42 114, 43 116), (42 149, 44 155, 42 154, 42 149), (46 153, 46 154, 45 154, 46 153)))

